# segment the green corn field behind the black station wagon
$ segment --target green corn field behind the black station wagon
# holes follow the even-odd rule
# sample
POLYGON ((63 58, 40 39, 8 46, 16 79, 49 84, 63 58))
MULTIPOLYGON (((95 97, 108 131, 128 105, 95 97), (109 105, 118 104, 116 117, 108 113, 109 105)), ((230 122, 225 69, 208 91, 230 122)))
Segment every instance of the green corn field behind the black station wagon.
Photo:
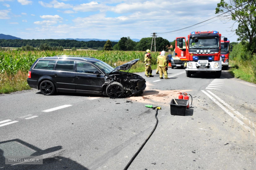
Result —
MULTIPOLYGON (((153 64, 156 63, 156 58, 159 53, 152 53, 153 64)), ((114 66, 114 63, 140 59, 143 62, 145 52, 142 51, 18 51, 6 50, 0 51, 0 74, 15 75, 18 71, 28 72, 36 59, 41 57, 55 55, 78 55, 91 56, 100 59, 109 65, 114 66)))

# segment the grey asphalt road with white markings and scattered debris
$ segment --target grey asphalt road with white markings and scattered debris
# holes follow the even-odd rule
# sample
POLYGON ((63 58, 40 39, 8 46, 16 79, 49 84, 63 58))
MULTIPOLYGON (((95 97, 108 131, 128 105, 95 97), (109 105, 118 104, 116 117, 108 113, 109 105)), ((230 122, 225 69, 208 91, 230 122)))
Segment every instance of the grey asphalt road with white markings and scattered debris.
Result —
POLYGON ((155 110, 145 104, 162 107, 159 123, 129 169, 255 169, 254 84, 228 72, 218 79, 188 78, 183 69, 169 69, 167 80, 153 75, 138 97, 35 89, 0 95, 0 169, 122 170, 155 125, 155 110), (170 114, 178 92, 193 96, 186 116, 170 114), (5 164, 7 156, 31 155, 43 156, 43 164, 5 164))

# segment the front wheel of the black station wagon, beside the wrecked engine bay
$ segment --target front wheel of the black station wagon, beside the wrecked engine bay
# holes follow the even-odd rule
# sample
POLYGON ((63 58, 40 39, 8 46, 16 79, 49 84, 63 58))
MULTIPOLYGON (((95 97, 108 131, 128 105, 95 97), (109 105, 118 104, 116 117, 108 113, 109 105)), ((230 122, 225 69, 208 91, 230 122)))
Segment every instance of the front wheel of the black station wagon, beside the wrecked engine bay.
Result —
POLYGON ((124 88, 120 83, 113 82, 107 86, 106 92, 110 98, 121 98, 124 93, 124 88))

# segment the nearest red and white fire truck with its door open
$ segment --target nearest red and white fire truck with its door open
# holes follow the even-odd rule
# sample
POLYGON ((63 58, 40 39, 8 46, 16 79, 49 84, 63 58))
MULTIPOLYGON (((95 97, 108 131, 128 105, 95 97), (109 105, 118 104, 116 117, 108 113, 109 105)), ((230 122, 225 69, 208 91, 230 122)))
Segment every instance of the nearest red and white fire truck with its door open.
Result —
MULTIPOLYGON (((224 41, 227 41, 227 38, 224 38, 224 41)), ((226 47, 227 42, 224 42, 224 48, 226 47)), ((221 34, 218 31, 191 32, 188 42, 186 37, 178 37, 175 52, 187 59, 187 77, 196 72, 212 72, 217 78, 221 76, 221 34)))

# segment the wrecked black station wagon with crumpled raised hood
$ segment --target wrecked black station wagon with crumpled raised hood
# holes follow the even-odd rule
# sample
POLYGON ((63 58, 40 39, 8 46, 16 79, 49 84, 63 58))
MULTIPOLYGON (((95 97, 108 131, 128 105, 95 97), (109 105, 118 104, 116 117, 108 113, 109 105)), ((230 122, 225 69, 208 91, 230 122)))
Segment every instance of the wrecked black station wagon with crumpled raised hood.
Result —
POLYGON ((140 95, 146 88, 145 79, 128 73, 138 60, 114 69, 93 57, 43 57, 34 62, 27 81, 30 87, 40 90, 44 95, 54 92, 103 94, 110 98, 140 95))

